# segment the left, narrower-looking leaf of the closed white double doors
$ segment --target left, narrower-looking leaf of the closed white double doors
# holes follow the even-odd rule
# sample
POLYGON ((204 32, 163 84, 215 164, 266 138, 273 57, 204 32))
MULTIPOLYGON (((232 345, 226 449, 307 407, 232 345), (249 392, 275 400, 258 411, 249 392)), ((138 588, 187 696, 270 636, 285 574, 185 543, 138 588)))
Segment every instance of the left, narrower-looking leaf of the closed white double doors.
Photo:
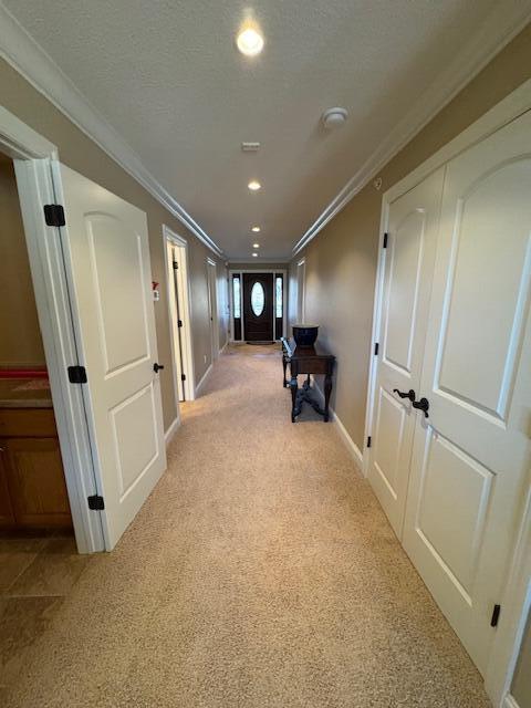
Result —
POLYGON ((398 538, 416 419, 407 394, 420 384, 442 178, 444 168, 388 215, 368 479, 398 538))

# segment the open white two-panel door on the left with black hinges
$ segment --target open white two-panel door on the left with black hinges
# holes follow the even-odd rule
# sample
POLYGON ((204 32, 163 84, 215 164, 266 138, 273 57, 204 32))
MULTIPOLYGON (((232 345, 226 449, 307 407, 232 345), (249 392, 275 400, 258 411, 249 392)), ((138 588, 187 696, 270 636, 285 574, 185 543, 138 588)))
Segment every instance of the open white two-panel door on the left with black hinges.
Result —
POLYGON ((84 399, 111 550, 166 468, 146 215, 61 166, 84 399))

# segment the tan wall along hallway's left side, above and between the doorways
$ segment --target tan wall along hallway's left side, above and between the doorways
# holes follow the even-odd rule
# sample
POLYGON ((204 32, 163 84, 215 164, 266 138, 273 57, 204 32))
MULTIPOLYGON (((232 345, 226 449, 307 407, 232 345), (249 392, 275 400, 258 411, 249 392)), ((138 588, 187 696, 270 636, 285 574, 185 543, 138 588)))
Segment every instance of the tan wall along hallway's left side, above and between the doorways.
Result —
MULTIPOLYGON (((33 88, 7 62, 0 61, 0 103, 21 121, 54 143, 62 163, 110 189, 147 214, 153 280, 160 283, 160 301, 155 303, 159 362, 170 362, 170 340, 164 272, 163 223, 188 240, 191 280, 191 329, 196 384, 210 365, 207 299, 207 257, 215 258, 194 235, 175 219, 133 177, 33 88), (205 362, 205 355, 207 361, 205 362)), ((219 267, 225 266, 219 261, 219 267)), ((160 373, 164 424, 167 429, 176 416, 170 366, 160 373)))

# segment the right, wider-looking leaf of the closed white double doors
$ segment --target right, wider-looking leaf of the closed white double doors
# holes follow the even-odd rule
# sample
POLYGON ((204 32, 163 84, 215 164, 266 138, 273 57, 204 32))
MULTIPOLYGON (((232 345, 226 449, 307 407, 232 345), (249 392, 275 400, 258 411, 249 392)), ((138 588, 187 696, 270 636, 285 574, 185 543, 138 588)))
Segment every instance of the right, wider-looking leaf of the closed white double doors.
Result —
POLYGON ((527 113, 447 165, 404 527, 482 673, 529 485, 530 283, 527 113))

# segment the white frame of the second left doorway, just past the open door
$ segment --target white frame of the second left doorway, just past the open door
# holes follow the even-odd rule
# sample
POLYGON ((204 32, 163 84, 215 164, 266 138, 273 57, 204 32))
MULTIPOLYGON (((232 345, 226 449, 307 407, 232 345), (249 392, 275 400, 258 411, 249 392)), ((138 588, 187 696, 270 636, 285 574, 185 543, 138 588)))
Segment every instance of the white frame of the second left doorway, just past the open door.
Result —
POLYGON ((173 231, 168 226, 163 223, 163 251, 164 251, 164 270, 166 273, 166 292, 167 292, 167 305, 168 305, 168 323, 170 335, 170 348, 171 348, 171 372, 174 376, 174 394, 175 405, 177 408, 177 420, 180 419, 179 410, 179 378, 180 364, 177 356, 177 342, 175 336, 175 319, 177 314, 177 304, 175 300, 175 287, 170 277, 174 273, 173 264, 168 259, 168 244, 171 244, 179 249, 181 262, 180 268, 177 270, 177 287, 179 290, 179 300, 181 305, 181 317, 184 326, 179 335, 181 339, 181 352, 183 352, 183 367, 186 375, 184 382, 185 399, 195 400, 196 391, 194 386, 195 372, 194 372, 194 343, 191 341, 191 294, 190 294, 190 279, 188 278, 188 241, 173 231))

